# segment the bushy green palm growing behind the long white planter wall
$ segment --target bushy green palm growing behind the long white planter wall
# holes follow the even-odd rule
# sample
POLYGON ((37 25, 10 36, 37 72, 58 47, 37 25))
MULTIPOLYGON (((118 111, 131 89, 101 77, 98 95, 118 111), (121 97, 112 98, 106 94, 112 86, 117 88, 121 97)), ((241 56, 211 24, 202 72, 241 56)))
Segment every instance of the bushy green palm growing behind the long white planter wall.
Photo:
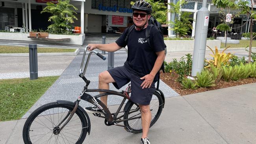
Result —
POLYGON ((72 4, 69 4, 69 0, 58 0, 57 4, 47 2, 47 6, 41 11, 41 13, 51 13, 48 21, 53 21, 53 24, 48 26, 48 31, 54 34, 68 34, 70 33, 71 24, 74 23, 74 19, 78 20, 74 10, 77 10, 72 4))

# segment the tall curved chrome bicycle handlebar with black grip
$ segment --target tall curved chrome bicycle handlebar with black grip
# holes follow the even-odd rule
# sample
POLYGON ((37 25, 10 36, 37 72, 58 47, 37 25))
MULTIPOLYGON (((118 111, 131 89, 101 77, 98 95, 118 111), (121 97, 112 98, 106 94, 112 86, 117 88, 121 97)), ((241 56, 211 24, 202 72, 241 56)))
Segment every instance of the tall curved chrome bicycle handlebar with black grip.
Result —
POLYGON ((83 67, 83 62, 84 62, 84 59, 85 59, 85 54, 86 54, 86 50, 87 50, 88 46, 85 47, 84 49, 84 52, 83 52, 83 59, 82 59, 82 63, 81 63, 81 67, 80 67, 80 70, 79 70, 79 76, 82 78, 84 77, 85 75, 85 72, 86 72, 86 69, 87 69, 87 66, 88 66, 88 63, 89 63, 89 60, 90 60, 90 57, 91 57, 91 54, 92 53, 95 53, 96 55, 98 55, 98 57, 100 57, 101 59, 103 60, 106 60, 106 57, 104 57, 102 54, 100 54, 99 52, 96 52, 95 50, 92 50, 88 57, 87 57, 87 60, 86 60, 86 63, 85 63, 85 66, 84 66, 84 69, 83 69, 83 72, 82 72, 82 67, 83 67))

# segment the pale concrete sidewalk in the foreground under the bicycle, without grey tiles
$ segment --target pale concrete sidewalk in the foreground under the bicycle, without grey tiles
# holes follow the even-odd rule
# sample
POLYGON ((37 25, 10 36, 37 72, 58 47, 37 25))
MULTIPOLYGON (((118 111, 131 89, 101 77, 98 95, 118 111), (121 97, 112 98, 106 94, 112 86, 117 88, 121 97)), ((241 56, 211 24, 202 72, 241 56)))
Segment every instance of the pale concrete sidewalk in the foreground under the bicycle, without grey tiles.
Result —
MULTIPOLYGON (((148 134, 151 144, 255 144, 256 83, 166 98, 148 134)), ((116 106, 110 106, 113 110, 116 106)), ((84 144, 139 144, 141 134, 106 126, 89 115, 91 134, 84 144)), ((26 119, 0 122, 0 144, 22 144, 26 119)))

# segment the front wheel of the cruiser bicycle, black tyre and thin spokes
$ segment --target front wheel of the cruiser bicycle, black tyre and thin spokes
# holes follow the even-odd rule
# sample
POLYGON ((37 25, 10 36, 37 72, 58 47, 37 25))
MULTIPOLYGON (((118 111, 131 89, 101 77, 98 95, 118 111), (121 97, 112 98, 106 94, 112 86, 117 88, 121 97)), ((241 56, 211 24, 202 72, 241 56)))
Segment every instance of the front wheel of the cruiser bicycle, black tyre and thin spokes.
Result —
MULTIPOLYGON (((87 119, 79 109, 76 110, 76 113, 60 133, 54 134, 54 128, 61 122, 60 119, 64 118, 72 109, 74 109, 72 105, 59 104, 57 102, 47 103, 36 109, 30 114, 24 124, 22 131, 24 143, 50 144, 58 142, 62 144, 82 144, 87 134, 87 119), (58 120, 56 120, 56 118, 58 118, 58 120), (74 125, 72 125, 73 122, 74 125)), ((65 121, 62 124, 64 123, 65 121)))

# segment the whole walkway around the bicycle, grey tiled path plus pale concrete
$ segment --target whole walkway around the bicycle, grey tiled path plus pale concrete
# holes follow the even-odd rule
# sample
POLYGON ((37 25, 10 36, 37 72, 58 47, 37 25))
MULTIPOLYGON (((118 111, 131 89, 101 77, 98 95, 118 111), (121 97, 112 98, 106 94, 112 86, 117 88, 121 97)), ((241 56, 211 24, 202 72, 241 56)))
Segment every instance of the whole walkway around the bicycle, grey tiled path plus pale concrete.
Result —
MULTIPOLYGON (((115 53, 115 66, 123 65, 126 57, 124 49, 115 53)), ((37 107, 56 100, 76 100, 84 85, 78 76, 82 54, 71 57, 70 61, 64 66, 59 79, 22 119, 0 122, 0 144, 22 144, 24 122, 37 107)), ((107 63, 94 54, 91 56, 86 72, 92 81, 89 88, 97 87, 98 74, 108 68, 107 63)), ((256 83, 187 96, 178 96, 165 83, 160 85, 166 103, 158 122, 150 128, 151 144, 256 144, 256 83)), ((113 86, 110 89, 115 90, 113 86)), ((120 103, 119 98, 112 96, 108 100, 112 105, 110 110, 120 103)), ((91 104, 81 102, 82 107, 88 105, 91 104)), ((141 134, 128 133, 122 127, 105 126, 103 119, 89 116, 91 134, 87 135, 84 143, 140 143, 141 134)))

